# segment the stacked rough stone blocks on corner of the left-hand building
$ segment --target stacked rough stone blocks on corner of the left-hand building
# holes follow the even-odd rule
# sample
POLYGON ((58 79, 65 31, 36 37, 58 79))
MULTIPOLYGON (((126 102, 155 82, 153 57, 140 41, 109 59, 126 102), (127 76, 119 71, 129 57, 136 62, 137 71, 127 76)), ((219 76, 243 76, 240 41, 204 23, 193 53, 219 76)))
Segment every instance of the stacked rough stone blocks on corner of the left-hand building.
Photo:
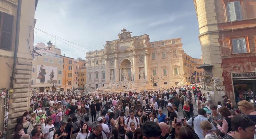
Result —
MULTIPOLYGON (((16 119, 29 110, 29 88, 31 79, 31 62, 17 61, 13 80, 14 92, 10 94, 8 136, 16 125, 16 119)), ((10 137, 8 137, 10 138, 10 137)))

